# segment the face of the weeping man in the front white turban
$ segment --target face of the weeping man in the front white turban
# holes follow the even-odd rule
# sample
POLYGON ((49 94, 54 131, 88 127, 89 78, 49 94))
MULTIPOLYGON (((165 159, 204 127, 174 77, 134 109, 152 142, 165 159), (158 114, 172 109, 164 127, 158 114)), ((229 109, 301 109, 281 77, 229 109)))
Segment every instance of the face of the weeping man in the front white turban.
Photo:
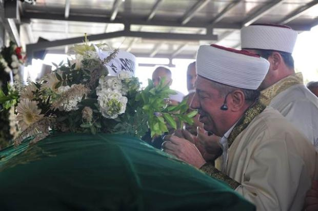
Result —
POLYGON ((220 109, 224 103, 224 96, 220 96, 219 91, 213 88, 211 83, 210 80, 197 76, 196 92, 190 106, 198 110, 199 120, 206 131, 222 137, 227 131, 224 128, 227 111, 220 109))

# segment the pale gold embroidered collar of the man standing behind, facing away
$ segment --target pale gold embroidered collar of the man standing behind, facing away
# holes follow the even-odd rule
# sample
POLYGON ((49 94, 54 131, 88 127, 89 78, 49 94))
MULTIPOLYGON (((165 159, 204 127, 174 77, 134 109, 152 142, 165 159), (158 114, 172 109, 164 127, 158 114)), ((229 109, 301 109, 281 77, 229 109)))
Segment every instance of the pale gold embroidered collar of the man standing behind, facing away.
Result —
POLYGON ((281 92, 287 90, 293 85, 303 84, 303 74, 295 73, 282 80, 274 83, 272 86, 261 91, 261 102, 265 105, 269 105, 270 101, 281 92))

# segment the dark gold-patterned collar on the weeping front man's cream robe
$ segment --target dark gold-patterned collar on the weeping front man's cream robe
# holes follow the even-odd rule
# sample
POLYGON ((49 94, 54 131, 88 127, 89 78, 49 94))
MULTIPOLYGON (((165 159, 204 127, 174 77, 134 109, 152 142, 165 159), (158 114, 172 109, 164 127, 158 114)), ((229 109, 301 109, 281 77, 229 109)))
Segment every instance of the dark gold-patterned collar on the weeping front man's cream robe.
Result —
POLYGON ((262 113, 262 111, 264 111, 264 109, 266 108, 266 106, 261 103, 261 102, 256 102, 252 107, 250 107, 249 109, 247 109, 247 111, 245 112, 245 114, 241 117, 240 120, 238 120, 237 124, 234 126, 234 129, 232 130, 232 132, 229 135, 228 138, 228 146, 230 148, 230 146, 232 145, 233 141, 235 140, 235 138, 244 130, 246 129, 246 127, 249 125, 249 123, 260 113, 262 113))

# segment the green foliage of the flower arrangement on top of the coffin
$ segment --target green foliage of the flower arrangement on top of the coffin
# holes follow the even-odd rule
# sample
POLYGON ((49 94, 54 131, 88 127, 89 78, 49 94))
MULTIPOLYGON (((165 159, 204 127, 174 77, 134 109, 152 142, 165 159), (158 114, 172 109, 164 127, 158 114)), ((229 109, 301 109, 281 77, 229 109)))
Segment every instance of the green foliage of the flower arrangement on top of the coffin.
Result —
MULTIPOLYGON (((83 53, 85 53, 85 46, 79 46, 78 48, 80 48, 79 50, 81 50, 81 52, 83 50, 83 53)), ((196 112, 186 114, 188 110, 186 100, 177 106, 170 106, 168 104, 167 99, 169 95, 176 93, 170 90, 167 85, 164 85, 164 80, 161 80, 157 87, 149 80, 149 85, 144 90, 141 90, 138 78, 126 78, 127 76, 125 76, 125 74, 120 75, 120 77, 124 78, 117 78, 121 80, 122 85, 122 90, 120 90, 121 99, 125 99, 123 96, 128 99, 125 113, 118 115, 115 119, 104 117, 102 111, 105 110, 101 110, 98 104, 101 103, 101 101, 97 100, 98 96, 101 97, 102 95, 98 94, 97 96, 96 88, 98 86, 98 80, 101 76, 106 76, 108 71, 103 66, 104 61, 98 59, 99 58, 84 58, 81 61, 81 68, 76 68, 76 65, 71 64, 70 60, 67 60, 65 64, 63 61, 58 65, 53 63, 56 67, 56 70, 53 72, 53 77, 50 75, 48 81, 44 80, 34 83, 36 89, 32 91, 32 100, 36 101, 37 109, 41 110, 41 114, 45 117, 55 119, 54 125, 50 126, 53 130, 92 134, 129 134, 141 138, 146 134, 149 128, 151 130, 151 136, 154 136, 180 128, 184 122, 188 124, 193 122, 192 117, 195 116, 196 112), (49 81, 48 86, 43 86, 49 81), (82 90, 77 90, 77 92, 75 90, 75 93, 80 94, 73 93, 74 90, 71 90, 72 85, 76 85, 73 87, 81 87, 78 89, 82 90), (66 88, 66 86, 70 88, 66 88), (64 90, 71 90, 72 92, 65 94, 68 91, 64 91, 61 93, 61 91, 57 91, 60 87, 64 87, 64 90), (86 91, 83 91, 83 89, 86 91), (62 106, 65 105, 69 106, 72 100, 72 103, 74 103, 72 95, 76 97, 75 109, 73 109, 73 107, 69 110, 64 107, 62 108, 62 106), (65 101, 65 98, 69 101, 65 101), (57 106, 54 106, 54 103, 56 103, 57 106), (60 110, 60 108, 62 109, 60 110)), ((118 92, 118 90, 116 91, 118 92)), ((107 88, 103 90, 102 93, 108 96, 108 92, 111 93, 113 91, 107 88), (104 93, 104 91, 106 93, 104 93)), ((16 106, 19 102, 19 97, 19 93, 10 87, 8 87, 8 93, 0 90, 0 104, 2 104, 4 109, 16 106)), ((107 98, 107 100, 103 101, 104 105, 101 106, 103 109, 108 109, 107 112, 113 110, 114 117, 122 112, 122 102, 111 98, 107 98)))

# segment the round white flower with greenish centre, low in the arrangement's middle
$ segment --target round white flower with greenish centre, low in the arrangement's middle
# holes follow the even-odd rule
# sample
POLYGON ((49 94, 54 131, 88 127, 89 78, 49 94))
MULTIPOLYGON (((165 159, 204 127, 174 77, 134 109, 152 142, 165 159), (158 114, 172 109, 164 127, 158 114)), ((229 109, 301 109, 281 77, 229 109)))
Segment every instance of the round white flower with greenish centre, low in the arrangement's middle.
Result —
POLYGON ((125 113, 127 97, 119 92, 104 90, 98 96, 97 101, 102 115, 109 119, 115 119, 118 115, 125 113))

